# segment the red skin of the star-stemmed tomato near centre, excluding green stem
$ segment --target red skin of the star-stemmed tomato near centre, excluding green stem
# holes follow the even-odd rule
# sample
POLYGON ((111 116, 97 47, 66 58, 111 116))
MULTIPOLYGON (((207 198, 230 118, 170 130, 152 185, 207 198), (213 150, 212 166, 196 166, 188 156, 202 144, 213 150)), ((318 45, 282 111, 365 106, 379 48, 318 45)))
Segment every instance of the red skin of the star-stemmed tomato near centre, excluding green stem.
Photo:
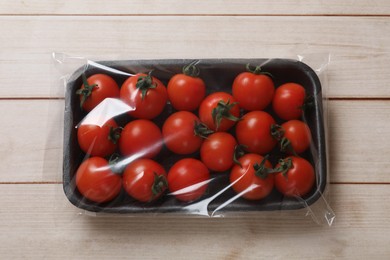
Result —
MULTIPOLYGON (((235 121, 229 120, 227 118, 222 118, 219 127, 217 128, 216 122, 213 118, 213 109, 215 109, 220 101, 229 104, 236 103, 236 99, 226 93, 226 92, 214 92, 213 94, 208 95, 200 104, 199 107, 199 118, 200 121, 207 125, 213 131, 225 132, 232 128, 235 125, 235 121)), ((235 104, 229 110, 230 114, 238 118, 240 116, 240 107, 238 104, 235 104)))

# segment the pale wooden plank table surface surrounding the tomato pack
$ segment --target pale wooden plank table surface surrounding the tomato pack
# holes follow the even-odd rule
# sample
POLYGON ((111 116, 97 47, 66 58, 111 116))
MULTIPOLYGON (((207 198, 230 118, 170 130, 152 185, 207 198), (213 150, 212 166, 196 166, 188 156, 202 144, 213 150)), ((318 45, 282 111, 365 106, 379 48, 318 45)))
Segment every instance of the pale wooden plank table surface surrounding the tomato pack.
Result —
POLYGON ((2 1, 1 258, 389 259, 389 15, 387 0, 2 1), (333 226, 299 214, 76 214, 61 190, 64 100, 53 51, 91 59, 330 53, 333 226))

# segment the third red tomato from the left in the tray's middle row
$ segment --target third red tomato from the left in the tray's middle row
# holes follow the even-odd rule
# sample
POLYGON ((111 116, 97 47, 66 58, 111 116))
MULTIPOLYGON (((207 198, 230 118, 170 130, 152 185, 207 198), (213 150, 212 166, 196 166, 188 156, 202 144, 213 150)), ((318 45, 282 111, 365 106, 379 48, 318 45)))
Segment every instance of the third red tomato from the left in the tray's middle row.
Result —
POLYGON ((162 134, 165 145, 177 154, 190 154, 199 150, 203 138, 196 134, 199 118, 188 111, 170 115, 164 122, 162 134))

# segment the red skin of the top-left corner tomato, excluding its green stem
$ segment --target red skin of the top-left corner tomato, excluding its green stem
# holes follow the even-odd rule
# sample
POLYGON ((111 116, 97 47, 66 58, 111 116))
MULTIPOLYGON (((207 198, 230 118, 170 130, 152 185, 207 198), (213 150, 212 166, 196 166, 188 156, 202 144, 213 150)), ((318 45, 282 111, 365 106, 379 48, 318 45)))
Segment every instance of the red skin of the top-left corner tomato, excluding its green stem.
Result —
MULTIPOLYGON (((119 86, 113 78, 105 74, 94 74, 87 78, 88 85, 94 85, 91 94, 86 97, 82 108, 85 111, 91 111, 99 105, 106 98, 119 98, 119 86)), ((80 91, 85 88, 82 84, 80 91)), ((80 95, 80 102, 82 102, 83 95, 80 95)))

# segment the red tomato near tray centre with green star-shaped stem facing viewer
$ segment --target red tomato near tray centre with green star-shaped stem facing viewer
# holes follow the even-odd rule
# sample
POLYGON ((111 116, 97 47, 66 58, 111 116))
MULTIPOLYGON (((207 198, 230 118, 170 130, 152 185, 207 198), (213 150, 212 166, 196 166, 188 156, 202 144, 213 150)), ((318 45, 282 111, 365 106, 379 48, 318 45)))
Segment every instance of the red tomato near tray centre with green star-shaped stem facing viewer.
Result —
POLYGON ((227 131, 239 120, 240 107, 236 99, 225 92, 207 96, 199 107, 199 118, 214 131, 227 131))

